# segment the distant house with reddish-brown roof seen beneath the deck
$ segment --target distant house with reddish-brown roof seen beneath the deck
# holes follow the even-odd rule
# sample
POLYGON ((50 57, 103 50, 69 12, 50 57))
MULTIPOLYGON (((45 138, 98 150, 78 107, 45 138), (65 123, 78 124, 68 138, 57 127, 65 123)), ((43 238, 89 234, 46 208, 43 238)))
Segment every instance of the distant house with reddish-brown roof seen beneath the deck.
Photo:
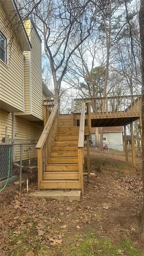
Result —
MULTIPOLYGON (((100 141, 100 128, 99 141, 100 141)), ((96 145, 95 128, 91 128, 93 146, 96 145)), ((123 151, 123 126, 103 127, 103 143, 110 149, 123 151)))

